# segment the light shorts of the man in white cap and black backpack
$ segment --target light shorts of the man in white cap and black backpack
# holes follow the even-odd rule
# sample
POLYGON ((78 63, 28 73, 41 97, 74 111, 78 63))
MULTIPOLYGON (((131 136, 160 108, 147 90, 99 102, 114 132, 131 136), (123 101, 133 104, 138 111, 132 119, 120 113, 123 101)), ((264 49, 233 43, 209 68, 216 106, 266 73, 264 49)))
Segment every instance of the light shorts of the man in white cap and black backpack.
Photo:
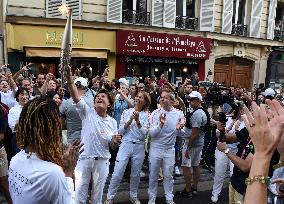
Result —
POLYGON ((192 147, 190 149, 190 156, 189 159, 185 158, 185 152, 188 147, 189 139, 184 139, 183 141, 183 147, 182 147, 182 164, 181 166, 185 167, 195 167, 199 166, 201 155, 202 155, 202 149, 203 146, 200 147, 192 147))

